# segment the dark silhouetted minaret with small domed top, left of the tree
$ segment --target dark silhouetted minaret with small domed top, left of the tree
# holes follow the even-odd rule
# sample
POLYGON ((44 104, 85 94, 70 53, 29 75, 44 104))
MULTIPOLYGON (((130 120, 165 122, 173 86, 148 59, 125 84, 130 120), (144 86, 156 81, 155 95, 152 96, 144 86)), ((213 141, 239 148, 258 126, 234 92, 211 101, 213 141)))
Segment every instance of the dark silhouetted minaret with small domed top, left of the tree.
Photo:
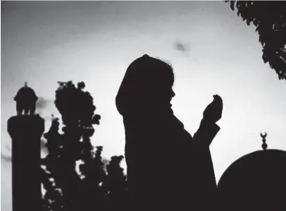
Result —
POLYGON ((9 118, 7 123, 12 139, 13 211, 40 211, 40 138, 45 130, 45 120, 35 115, 38 97, 26 82, 14 100, 17 116, 9 118))

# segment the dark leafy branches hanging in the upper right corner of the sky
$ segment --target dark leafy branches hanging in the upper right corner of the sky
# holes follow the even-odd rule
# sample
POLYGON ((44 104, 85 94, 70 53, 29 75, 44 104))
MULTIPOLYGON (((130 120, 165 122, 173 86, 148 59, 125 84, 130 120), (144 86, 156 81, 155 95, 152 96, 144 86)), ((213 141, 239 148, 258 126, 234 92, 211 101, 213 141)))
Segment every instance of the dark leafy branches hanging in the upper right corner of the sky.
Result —
POLYGON ((262 59, 286 80, 286 1, 225 1, 249 26, 253 24, 262 45, 262 59))

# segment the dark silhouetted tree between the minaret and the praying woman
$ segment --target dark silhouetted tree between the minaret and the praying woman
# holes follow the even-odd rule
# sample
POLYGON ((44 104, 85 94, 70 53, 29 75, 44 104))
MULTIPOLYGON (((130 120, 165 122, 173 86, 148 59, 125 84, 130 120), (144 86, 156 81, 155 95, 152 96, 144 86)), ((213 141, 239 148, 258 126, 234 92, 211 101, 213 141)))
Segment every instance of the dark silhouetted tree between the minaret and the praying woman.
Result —
MULTIPOLYGON (((44 134, 49 153, 42 159, 42 184, 46 190, 43 208, 46 211, 106 210, 110 192, 106 194, 103 187, 114 182, 106 180, 110 176, 104 171, 102 146, 95 149, 90 143, 95 132, 93 125, 100 124, 100 115, 95 114, 93 97, 84 91, 84 82, 77 87, 72 81, 58 84, 55 105, 61 114, 63 133, 59 132, 59 118, 53 117, 49 131, 44 134), (81 163, 79 171, 78 162, 81 163)), ((120 161, 116 162, 117 169, 120 161)), ((125 180, 125 177, 117 174, 112 180, 125 180)))

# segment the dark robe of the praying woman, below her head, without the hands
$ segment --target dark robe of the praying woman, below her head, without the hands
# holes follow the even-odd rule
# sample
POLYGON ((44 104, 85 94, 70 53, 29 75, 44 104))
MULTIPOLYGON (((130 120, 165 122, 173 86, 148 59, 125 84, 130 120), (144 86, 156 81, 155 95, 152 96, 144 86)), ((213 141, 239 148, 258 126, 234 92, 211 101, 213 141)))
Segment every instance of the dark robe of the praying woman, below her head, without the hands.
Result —
POLYGON ((216 179, 209 143, 219 126, 192 137, 173 112, 123 116, 131 210, 210 210, 216 179))

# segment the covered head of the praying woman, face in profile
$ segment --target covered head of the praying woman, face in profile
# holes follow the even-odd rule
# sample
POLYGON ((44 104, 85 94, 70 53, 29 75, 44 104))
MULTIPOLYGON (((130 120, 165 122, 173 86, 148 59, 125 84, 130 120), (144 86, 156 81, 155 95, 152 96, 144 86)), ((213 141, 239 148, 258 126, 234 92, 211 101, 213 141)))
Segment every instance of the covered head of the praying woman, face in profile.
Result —
POLYGON ((147 54, 133 61, 125 73, 116 96, 120 114, 141 112, 143 109, 170 108, 175 96, 173 68, 147 54))

